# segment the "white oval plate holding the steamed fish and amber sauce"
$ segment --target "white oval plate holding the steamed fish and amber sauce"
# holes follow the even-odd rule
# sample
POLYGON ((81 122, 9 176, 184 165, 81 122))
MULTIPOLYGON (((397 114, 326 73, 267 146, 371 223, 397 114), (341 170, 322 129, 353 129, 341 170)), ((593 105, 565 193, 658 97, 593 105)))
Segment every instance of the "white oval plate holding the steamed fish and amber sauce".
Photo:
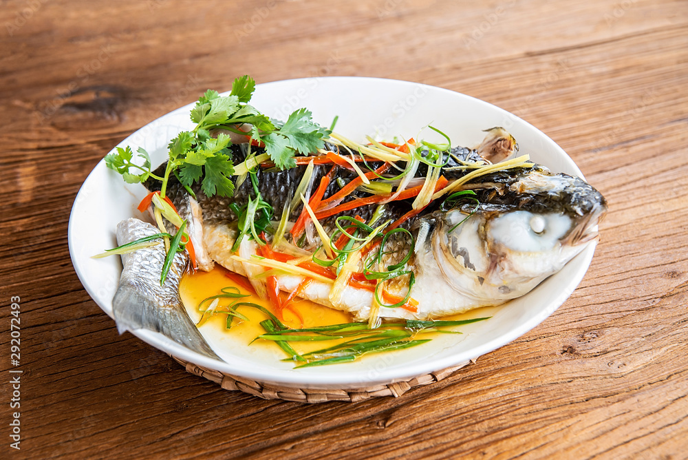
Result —
MULTIPOLYGON (((549 167, 583 177, 571 158, 553 140, 521 118, 484 101, 438 87, 385 79, 327 77, 277 81, 258 85, 251 100, 268 116, 286 120, 300 107, 313 112, 314 120, 329 126, 338 116, 336 131, 356 140, 409 138, 432 124, 449 135, 453 145, 480 143, 483 129, 502 126, 519 143, 519 154, 549 167)), ((142 127, 119 144, 133 151, 143 147, 153 166, 166 158, 166 146, 180 131, 193 129, 189 110, 180 107, 142 127)), ((427 132, 427 131, 426 131, 427 132)), ((114 229, 120 220, 139 216, 138 202, 146 194, 142 185, 128 185, 121 176, 96 165, 83 183, 69 218, 69 253, 86 291, 112 317, 112 297, 117 288, 119 258, 95 260, 91 256, 116 246, 114 229)), ((363 357, 358 362, 294 369, 290 363, 252 353, 245 345, 219 349, 219 362, 199 355, 159 333, 144 329, 134 334, 166 353, 205 368, 261 382, 300 388, 356 388, 388 384, 456 366, 499 348, 530 331, 552 314, 576 289, 588 270, 594 243, 559 273, 536 289, 497 310, 488 321, 464 326, 463 335, 444 334, 427 344, 394 353, 363 357)), ((215 342, 215 343, 213 343, 215 342)))

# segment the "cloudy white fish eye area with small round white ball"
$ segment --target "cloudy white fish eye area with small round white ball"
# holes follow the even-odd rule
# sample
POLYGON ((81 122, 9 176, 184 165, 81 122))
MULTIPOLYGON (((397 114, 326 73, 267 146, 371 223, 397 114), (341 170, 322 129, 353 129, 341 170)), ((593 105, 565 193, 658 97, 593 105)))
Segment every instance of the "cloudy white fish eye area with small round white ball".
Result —
POLYGON ((570 231, 572 220, 559 213, 513 211, 488 223, 488 238, 510 251, 539 252, 554 248, 570 231))

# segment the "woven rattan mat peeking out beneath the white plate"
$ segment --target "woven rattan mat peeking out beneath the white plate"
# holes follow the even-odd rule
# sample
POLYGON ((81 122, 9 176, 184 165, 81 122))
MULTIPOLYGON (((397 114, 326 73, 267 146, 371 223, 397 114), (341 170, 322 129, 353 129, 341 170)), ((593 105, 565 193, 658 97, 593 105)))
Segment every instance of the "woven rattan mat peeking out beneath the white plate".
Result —
POLYGON ((244 379, 243 377, 236 377, 235 375, 227 375, 219 372, 219 370, 206 369, 196 364, 186 362, 184 359, 180 359, 176 356, 172 357, 176 362, 184 366, 187 372, 214 381, 225 390, 243 391, 244 393, 263 399, 284 399, 286 401, 298 401, 303 403, 321 403, 327 401, 357 402, 363 401, 364 399, 383 396, 400 397, 413 387, 430 385, 445 379, 456 370, 468 364, 468 362, 464 362, 457 366, 421 375, 420 377, 413 377, 406 381, 397 381, 394 384, 348 388, 346 390, 337 390, 336 388, 318 390, 314 388, 293 388, 290 386, 260 383, 254 380, 244 379))

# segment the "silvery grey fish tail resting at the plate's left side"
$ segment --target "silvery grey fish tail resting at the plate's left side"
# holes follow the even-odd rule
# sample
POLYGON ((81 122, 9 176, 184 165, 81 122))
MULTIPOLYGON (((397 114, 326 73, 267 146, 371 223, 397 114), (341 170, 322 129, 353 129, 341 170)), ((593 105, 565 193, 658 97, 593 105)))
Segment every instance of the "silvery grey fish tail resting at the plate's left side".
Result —
MULTIPOLYGON (((117 225, 117 244, 122 245, 158 229, 141 220, 130 218, 117 225)), ((189 318, 179 297, 179 283, 186 273, 189 256, 177 253, 163 286, 160 273, 165 258, 162 240, 153 247, 122 254, 122 275, 112 313, 119 333, 150 329, 162 333, 191 350, 219 359, 189 318)))

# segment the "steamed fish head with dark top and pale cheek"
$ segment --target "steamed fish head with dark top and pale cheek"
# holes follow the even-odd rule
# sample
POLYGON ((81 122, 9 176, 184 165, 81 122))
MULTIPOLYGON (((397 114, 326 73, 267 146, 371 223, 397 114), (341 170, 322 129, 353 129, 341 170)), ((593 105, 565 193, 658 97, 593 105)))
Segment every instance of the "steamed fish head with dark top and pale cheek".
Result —
POLYGON ((492 174, 471 189, 477 203, 434 213, 429 243, 444 281, 485 304, 524 295, 561 270, 599 238, 607 211, 587 182, 541 167, 492 174))

